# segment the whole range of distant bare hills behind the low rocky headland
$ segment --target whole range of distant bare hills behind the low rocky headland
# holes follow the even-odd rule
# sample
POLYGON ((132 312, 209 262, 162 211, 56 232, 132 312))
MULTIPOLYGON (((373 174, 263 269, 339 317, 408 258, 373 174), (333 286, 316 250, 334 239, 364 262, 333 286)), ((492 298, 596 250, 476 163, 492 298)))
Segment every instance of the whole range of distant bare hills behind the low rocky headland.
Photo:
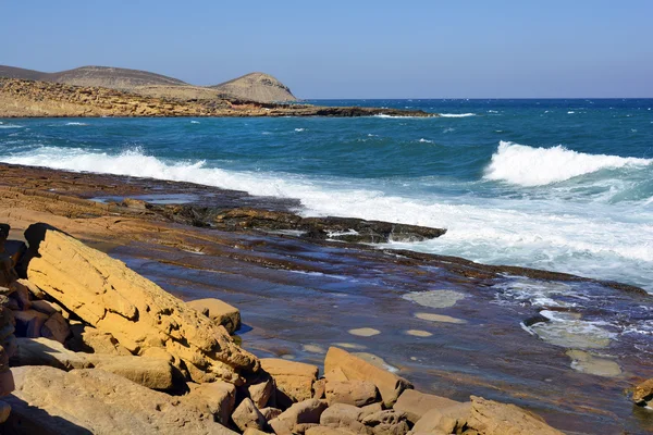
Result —
POLYGON ((0 65, 0 77, 52 82, 74 86, 103 87, 156 98, 220 100, 233 98, 257 102, 296 101, 287 86, 263 73, 251 73, 215 86, 193 86, 177 78, 147 71, 111 66, 82 66, 44 73, 0 65))

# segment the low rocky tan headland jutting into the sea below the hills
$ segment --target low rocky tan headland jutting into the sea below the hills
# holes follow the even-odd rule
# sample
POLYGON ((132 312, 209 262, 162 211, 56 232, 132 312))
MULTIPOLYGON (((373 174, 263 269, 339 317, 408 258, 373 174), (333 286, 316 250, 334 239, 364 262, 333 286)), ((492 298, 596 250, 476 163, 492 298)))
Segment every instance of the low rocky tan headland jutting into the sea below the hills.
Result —
POLYGON ((0 117, 436 116, 419 110, 278 104, 231 97, 180 99, 103 87, 0 77, 0 117))

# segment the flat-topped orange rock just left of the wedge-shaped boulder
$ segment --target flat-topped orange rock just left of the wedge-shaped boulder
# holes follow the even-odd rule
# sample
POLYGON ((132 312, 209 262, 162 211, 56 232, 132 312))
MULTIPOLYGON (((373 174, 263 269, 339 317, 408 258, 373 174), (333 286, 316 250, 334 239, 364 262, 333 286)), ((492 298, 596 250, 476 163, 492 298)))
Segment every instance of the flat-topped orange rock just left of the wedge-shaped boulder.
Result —
POLYGON ((287 361, 278 358, 262 358, 261 366, 274 377, 276 388, 293 401, 312 397, 312 383, 318 380, 317 365, 287 361))

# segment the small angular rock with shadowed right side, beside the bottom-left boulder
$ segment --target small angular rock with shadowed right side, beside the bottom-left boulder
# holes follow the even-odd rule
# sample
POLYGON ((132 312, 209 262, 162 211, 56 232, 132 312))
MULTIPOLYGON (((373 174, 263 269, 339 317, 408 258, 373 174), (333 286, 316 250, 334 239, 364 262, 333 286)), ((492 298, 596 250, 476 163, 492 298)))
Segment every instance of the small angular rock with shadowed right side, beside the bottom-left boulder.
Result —
POLYGON ((221 381, 192 384, 190 393, 183 396, 182 400, 208 412, 218 423, 226 426, 236 405, 236 387, 221 381))

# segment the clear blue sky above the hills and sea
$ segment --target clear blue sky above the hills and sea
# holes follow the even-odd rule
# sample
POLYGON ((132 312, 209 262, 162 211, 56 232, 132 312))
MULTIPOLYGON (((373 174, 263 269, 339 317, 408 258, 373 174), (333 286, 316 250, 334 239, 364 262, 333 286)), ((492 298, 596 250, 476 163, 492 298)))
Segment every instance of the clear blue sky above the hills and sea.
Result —
POLYGON ((653 97, 653 1, 0 0, 0 64, 300 98, 653 97), (315 3, 315 4, 313 4, 315 3))

